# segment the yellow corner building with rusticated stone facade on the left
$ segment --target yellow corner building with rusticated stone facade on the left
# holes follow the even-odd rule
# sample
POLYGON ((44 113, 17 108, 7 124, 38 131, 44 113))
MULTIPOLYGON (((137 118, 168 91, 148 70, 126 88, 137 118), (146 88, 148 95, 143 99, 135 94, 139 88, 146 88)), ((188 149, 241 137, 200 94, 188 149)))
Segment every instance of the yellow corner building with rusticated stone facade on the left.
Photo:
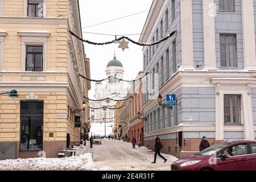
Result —
POLYGON ((79 74, 90 77, 90 65, 69 30, 82 36, 76 0, 0 0, 0 93, 19 95, 0 96, 3 159, 56 157, 80 143, 90 82, 79 74))

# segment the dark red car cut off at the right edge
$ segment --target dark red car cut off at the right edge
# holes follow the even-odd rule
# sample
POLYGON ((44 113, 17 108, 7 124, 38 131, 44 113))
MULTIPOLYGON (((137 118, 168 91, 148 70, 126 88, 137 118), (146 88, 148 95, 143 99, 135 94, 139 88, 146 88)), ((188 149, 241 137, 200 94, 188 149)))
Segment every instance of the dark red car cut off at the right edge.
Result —
POLYGON ((172 171, 256 171, 256 141, 214 144, 171 165, 172 171))

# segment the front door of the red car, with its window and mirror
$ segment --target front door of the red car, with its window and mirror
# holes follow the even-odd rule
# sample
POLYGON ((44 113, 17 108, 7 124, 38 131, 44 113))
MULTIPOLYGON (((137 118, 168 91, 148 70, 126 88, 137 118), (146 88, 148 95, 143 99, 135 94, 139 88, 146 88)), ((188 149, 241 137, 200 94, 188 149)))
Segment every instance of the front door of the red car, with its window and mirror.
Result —
POLYGON ((218 168, 221 171, 246 171, 250 170, 250 155, 246 143, 236 144, 222 151, 221 154, 229 154, 224 160, 217 159, 218 168))

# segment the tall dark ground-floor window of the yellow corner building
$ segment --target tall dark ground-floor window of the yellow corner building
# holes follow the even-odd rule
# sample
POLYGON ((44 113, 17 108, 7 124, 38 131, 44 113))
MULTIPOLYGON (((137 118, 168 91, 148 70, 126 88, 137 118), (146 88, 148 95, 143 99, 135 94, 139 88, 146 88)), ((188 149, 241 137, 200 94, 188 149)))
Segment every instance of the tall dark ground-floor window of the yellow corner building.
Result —
POLYGON ((20 101, 20 150, 43 149, 43 101, 20 101))

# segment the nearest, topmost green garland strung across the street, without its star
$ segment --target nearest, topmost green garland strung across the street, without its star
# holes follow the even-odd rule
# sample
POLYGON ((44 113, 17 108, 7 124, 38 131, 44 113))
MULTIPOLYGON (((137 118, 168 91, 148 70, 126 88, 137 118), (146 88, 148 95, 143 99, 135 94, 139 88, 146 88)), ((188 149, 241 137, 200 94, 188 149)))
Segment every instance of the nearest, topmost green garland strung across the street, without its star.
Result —
POLYGON ((128 38, 127 36, 121 36, 120 38, 117 38, 115 40, 111 40, 109 42, 103 42, 103 43, 96 43, 96 42, 91 42, 90 40, 84 40, 82 38, 80 38, 80 36, 76 35, 74 32, 72 32, 71 30, 69 30, 69 32, 71 33, 71 35, 75 36, 77 39, 81 40, 82 42, 85 42, 85 43, 88 43, 88 44, 93 44, 93 45, 96 45, 96 46, 103 46, 103 45, 108 45, 108 44, 112 44, 112 43, 115 43, 116 41, 121 41, 123 39, 126 39, 126 40, 129 40, 131 43, 134 43, 134 44, 137 44, 138 46, 154 46, 156 44, 159 44, 169 38, 171 38, 174 34, 175 34, 175 30, 172 31, 169 35, 167 35, 166 37, 156 41, 156 42, 152 42, 152 43, 140 43, 140 42, 136 42, 135 40, 133 39, 130 39, 128 38))

